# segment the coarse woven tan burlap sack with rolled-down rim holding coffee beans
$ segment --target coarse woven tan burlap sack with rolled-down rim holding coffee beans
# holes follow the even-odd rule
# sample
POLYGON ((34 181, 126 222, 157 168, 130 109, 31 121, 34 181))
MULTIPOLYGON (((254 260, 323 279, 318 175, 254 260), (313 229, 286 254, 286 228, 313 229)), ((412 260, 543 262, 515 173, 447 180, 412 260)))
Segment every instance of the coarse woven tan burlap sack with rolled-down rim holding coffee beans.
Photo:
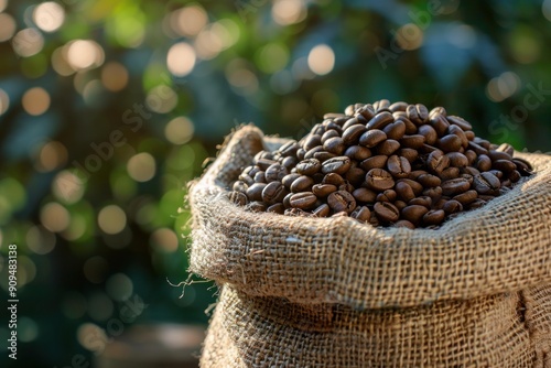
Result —
POLYGON ((207 367, 551 367, 551 160, 437 230, 245 212, 281 140, 236 131, 190 194, 191 271, 222 286, 207 367))

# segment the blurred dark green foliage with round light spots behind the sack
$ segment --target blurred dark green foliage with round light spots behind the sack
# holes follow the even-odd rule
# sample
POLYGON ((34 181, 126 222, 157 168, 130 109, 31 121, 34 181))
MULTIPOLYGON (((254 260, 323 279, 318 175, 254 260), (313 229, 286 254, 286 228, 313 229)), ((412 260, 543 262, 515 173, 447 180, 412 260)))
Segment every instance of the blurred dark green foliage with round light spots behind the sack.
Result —
MULTIPOLYGON (((169 283, 188 277, 183 198, 241 122, 298 138, 324 112, 388 98, 550 151, 550 21, 549 0, 0 0, 0 251, 18 245, 18 365, 100 353, 88 336, 112 337, 136 295, 147 307, 125 326, 206 324, 213 284, 179 297, 169 283)), ((1 258, 3 300, 7 270, 1 258)))

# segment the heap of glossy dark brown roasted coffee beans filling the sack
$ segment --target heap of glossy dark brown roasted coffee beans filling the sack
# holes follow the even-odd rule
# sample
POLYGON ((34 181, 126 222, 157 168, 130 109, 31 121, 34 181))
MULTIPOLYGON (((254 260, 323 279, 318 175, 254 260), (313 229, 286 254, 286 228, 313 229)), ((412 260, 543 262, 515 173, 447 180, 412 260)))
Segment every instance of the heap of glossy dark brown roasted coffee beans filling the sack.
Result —
POLYGON ((531 175, 511 145, 472 129, 443 107, 350 105, 326 113, 300 141, 259 152, 229 197, 251 212, 436 228, 531 175))

